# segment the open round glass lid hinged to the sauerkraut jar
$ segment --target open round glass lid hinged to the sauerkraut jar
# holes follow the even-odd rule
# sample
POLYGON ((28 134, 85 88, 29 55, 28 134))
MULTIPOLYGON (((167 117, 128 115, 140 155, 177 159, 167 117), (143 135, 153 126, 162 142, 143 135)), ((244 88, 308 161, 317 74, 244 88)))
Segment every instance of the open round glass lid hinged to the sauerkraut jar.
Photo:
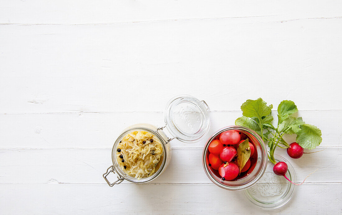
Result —
POLYGON ((164 121, 168 131, 184 143, 195 143, 210 127, 208 105, 189 95, 172 98, 166 105, 164 121))

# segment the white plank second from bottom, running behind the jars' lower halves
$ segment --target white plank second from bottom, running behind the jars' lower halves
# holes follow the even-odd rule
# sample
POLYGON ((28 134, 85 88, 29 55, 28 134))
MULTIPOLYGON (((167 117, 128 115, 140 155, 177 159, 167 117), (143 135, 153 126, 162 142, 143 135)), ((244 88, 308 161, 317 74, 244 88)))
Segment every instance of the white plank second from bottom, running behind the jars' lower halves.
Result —
MULTIPOLYGON (((172 149, 168 169, 149 184, 211 184, 202 167, 202 151, 172 149)), ((305 183, 342 183, 341 147, 304 154, 301 159, 289 158, 285 149, 276 153, 291 163, 298 182, 318 169, 305 183)), ((0 183, 106 184, 102 174, 111 166, 110 149, 2 149, 0 154, 0 183)), ((109 178, 114 181, 114 174, 109 178)))

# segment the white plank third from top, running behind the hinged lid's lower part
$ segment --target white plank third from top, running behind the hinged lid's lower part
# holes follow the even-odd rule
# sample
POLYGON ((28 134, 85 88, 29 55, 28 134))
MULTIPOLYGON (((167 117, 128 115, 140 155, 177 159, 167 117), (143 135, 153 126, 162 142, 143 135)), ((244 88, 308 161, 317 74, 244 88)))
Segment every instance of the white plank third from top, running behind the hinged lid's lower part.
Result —
MULTIPOLYGON (((170 145, 174 148, 203 147, 213 133, 222 127, 234 125, 241 115, 241 111, 210 112, 210 130, 200 142, 186 144, 172 140, 170 145)), ((276 112, 273 115, 276 122, 276 112)), ((321 129, 321 146, 341 146, 342 111, 299 111, 297 116, 321 129)), ((162 112, 0 114, 0 122, 0 148, 111 148, 129 125, 164 125, 162 112)), ((285 139, 292 143, 295 136, 285 139)))

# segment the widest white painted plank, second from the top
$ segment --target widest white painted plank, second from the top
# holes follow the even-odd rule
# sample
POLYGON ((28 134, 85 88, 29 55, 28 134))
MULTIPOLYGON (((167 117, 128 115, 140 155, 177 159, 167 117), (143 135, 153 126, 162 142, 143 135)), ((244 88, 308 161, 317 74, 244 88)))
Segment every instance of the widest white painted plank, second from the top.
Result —
POLYGON ((214 111, 258 97, 341 110, 341 25, 339 18, 1 25, 0 113, 163 111, 177 94, 214 111))

